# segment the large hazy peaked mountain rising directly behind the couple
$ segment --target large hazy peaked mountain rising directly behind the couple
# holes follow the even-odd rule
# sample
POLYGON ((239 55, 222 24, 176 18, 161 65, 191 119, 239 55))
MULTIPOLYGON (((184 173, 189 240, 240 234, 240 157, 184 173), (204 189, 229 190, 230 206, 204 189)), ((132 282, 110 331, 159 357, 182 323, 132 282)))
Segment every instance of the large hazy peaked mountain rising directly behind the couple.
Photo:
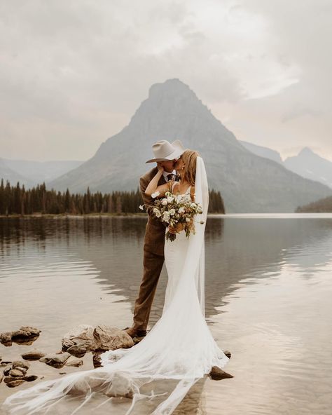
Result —
POLYGON ((221 191, 226 212, 293 212, 328 196, 323 184, 303 179, 248 151, 179 79, 151 86, 130 123, 102 143, 92 158, 50 182, 64 191, 137 189, 151 165, 151 145, 180 139, 205 159, 209 186, 221 191))

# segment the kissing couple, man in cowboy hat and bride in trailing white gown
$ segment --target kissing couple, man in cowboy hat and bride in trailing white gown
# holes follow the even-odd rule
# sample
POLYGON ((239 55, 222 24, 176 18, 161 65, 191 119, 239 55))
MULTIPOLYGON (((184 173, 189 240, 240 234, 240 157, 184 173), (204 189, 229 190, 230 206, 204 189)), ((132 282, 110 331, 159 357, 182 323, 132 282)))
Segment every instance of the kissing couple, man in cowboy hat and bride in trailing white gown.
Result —
POLYGON ((148 212, 144 274, 133 325, 125 329, 139 341, 132 348, 102 353, 102 367, 44 381, 9 396, 4 402, 8 413, 76 414, 85 407, 85 414, 170 415, 188 390, 207 374, 214 374, 212 379, 233 377, 221 369, 230 355, 214 341, 205 321, 205 224, 209 204, 205 163, 197 151, 184 149, 179 140, 162 140, 152 149, 155 157, 146 163, 157 165, 140 179, 148 212), (175 172, 179 181, 171 176, 175 172), (195 214, 195 232, 186 235, 181 227, 168 226, 153 214, 155 203, 168 191, 177 200, 200 205, 200 212, 195 214), (175 233, 176 238, 167 239, 167 232, 175 233), (147 332, 164 260, 168 278, 165 304, 162 316, 147 332))

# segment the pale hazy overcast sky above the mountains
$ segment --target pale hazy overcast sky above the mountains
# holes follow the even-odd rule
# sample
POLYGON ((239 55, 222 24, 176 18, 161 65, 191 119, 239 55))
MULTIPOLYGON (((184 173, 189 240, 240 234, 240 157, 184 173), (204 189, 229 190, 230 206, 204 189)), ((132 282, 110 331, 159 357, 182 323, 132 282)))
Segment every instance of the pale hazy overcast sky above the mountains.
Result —
POLYGON ((331 0, 0 0, 0 157, 85 160, 179 78, 239 140, 332 160, 331 0))

